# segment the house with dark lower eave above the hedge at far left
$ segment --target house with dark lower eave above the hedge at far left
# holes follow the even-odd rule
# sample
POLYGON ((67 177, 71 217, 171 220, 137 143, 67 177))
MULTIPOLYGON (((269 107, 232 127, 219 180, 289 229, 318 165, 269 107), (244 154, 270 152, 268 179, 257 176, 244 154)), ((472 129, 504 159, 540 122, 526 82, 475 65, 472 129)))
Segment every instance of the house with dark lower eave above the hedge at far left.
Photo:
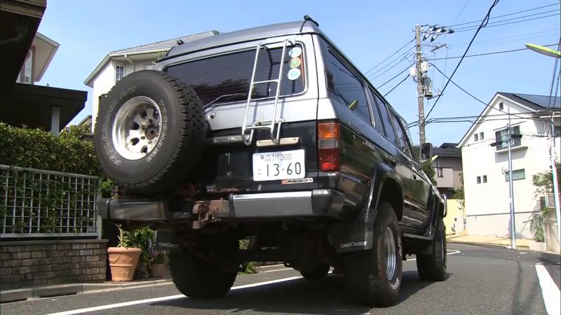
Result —
POLYGON ((15 127, 50 130, 58 135, 86 104, 88 93, 60 87, 35 85, 43 77, 59 43, 36 33, 23 54, 11 88, 0 95, 0 121, 15 127))

